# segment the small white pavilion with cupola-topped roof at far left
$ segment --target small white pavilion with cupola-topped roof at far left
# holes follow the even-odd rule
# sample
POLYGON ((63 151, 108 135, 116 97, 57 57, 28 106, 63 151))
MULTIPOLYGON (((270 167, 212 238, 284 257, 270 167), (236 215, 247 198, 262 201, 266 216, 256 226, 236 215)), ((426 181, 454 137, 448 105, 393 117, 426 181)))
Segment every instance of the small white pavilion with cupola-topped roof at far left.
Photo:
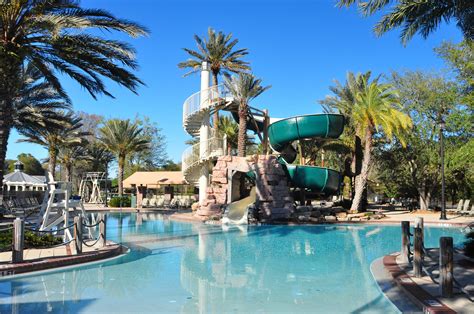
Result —
POLYGON ((3 186, 6 191, 45 191, 46 177, 31 176, 23 172, 23 164, 15 163, 15 170, 3 177, 3 186))

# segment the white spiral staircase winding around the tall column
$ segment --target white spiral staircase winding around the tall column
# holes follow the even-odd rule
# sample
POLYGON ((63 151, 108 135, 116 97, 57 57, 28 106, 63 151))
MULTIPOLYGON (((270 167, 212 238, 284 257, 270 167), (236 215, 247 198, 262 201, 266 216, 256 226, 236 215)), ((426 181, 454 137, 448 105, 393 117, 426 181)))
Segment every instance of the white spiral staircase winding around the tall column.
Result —
POLYGON ((189 96, 183 104, 183 128, 199 141, 188 147, 182 155, 182 172, 189 184, 196 185, 201 167, 226 153, 227 141, 225 136, 213 129, 209 130, 207 139, 200 139, 200 129, 203 121, 208 119, 215 110, 227 108, 233 103, 230 92, 223 84, 211 86, 208 89, 189 96))

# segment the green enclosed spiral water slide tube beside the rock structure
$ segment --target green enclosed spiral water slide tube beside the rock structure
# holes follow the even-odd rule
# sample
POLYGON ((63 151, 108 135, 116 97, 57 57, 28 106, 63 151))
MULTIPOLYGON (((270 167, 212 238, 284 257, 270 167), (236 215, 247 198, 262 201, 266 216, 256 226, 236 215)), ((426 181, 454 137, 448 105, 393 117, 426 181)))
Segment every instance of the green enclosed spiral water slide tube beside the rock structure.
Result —
POLYGON ((282 164, 288 178, 299 188, 334 194, 339 189, 339 172, 322 167, 291 165, 296 158, 292 142, 302 139, 337 139, 344 130, 340 114, 312 114, 282 119, 270 124, 268 137, 273 150, 282 153, 282 164))

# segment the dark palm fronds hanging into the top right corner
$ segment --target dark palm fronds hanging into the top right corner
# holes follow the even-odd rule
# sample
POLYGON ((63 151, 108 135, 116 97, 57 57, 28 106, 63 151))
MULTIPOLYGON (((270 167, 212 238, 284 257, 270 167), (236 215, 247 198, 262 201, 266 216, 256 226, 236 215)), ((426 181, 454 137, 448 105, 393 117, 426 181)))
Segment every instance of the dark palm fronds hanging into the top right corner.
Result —
POLYGON ((416 33, 427 38, 444 21, 455 20, 464 37, 474 39, 474 4, 472 0, 339 0, 339 7, 349 7, 357 3, 364 16, 370 16, 388 5, 394 4, 390 12, 382 16, 375 25, 375 33, 386 32, 401 27, 401 40, 406 44, 416 33), (395 2, 395 3, 394 3, 395 2))

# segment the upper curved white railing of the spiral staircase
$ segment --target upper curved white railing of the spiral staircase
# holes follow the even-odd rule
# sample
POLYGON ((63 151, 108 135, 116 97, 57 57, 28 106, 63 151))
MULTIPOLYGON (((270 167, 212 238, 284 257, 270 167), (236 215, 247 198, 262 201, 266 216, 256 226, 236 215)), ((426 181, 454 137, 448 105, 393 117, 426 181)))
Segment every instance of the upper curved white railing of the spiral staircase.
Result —
POLYGON ((208 109, 214 105, 220 104, 223 101, 230 101, 231 94, 224 84, 211 86, 204 90, 203 97, 201 92, 197 92, 189 96, 183 104, 183 125, 189 117, 201 110, 208 109), (202 103, 201 103, 202 101, 202 103))

